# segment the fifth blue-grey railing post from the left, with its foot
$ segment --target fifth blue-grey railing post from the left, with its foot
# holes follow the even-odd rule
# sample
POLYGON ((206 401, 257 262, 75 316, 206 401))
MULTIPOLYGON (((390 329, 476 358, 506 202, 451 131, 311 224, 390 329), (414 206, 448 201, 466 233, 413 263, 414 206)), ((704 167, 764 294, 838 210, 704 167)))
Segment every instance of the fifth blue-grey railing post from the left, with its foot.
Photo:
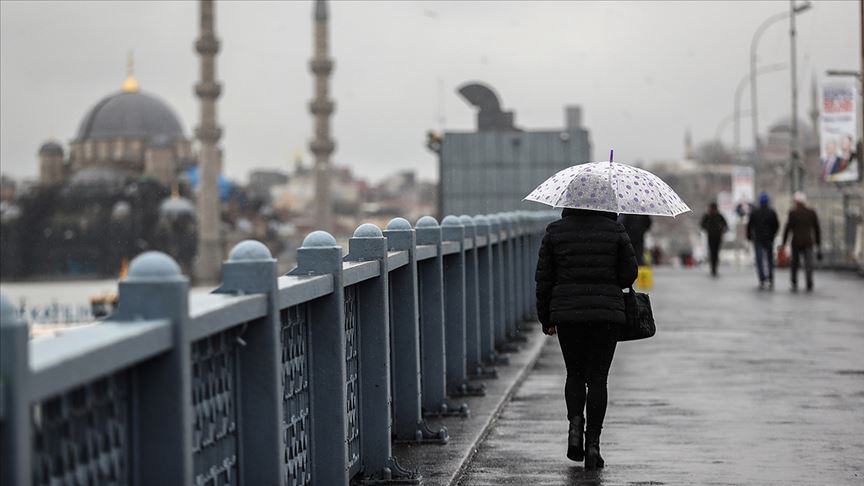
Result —
POLYGON ((378 262, 378 277, 357 290, 360 346, 360 461, 362 480, 418 479, 401 468, 390 446, 390 303, 387 239, 377 226, 364 224, 348 242, 347 262, 378 262))

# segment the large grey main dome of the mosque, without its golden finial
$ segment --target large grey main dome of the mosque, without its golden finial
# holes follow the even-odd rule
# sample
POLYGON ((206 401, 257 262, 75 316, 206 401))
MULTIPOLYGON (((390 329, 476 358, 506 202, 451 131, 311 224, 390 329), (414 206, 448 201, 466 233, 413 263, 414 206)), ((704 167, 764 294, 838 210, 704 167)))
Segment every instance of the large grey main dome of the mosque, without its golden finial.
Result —
POLYGON ((78 141, 113 138, 184 138, 174 111, 159 98, 141 92, 119 92, 96 104, 81 121, 78 141))

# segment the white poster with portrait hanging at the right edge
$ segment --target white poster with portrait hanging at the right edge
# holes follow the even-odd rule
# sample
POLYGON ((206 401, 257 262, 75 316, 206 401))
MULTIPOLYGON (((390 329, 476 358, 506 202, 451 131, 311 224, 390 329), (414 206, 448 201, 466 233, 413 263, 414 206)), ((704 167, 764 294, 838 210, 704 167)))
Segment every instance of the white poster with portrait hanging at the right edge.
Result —
POLYGON ((857 96, 852 80, 826 80, 819 104, 819 156, 822 179, 855 182, 861 177, 857 152, 857 96))

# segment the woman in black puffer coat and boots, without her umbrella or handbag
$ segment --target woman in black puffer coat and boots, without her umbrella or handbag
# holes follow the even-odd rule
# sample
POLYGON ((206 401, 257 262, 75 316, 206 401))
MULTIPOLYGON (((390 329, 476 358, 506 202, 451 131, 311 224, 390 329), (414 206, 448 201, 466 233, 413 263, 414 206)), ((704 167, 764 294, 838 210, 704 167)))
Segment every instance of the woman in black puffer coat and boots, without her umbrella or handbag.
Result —
POLYGON ((615 331, 625 319, 621 289, 636 274, 633 245, 614 213, 565 209, 546 228, 535 274, 537 314, 543 332, 558 335, 567 367, 567 457, 584 458, 586 469, 604 465, 600 431, 615 331))

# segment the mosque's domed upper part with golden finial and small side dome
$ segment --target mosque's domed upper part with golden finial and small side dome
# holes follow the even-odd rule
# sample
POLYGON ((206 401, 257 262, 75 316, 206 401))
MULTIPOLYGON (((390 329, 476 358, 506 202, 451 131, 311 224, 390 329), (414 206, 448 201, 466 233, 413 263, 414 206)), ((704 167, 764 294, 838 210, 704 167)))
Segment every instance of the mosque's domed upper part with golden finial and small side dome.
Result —
POLYGON ((192 141, 174 110, 141 91, 130 54, 122 88, 87 112, 69 143, 68 157, 54 140, 39 148, 39 179, 44 185, 78 185, 143 176, 172 187, 196 162, 192 141))

